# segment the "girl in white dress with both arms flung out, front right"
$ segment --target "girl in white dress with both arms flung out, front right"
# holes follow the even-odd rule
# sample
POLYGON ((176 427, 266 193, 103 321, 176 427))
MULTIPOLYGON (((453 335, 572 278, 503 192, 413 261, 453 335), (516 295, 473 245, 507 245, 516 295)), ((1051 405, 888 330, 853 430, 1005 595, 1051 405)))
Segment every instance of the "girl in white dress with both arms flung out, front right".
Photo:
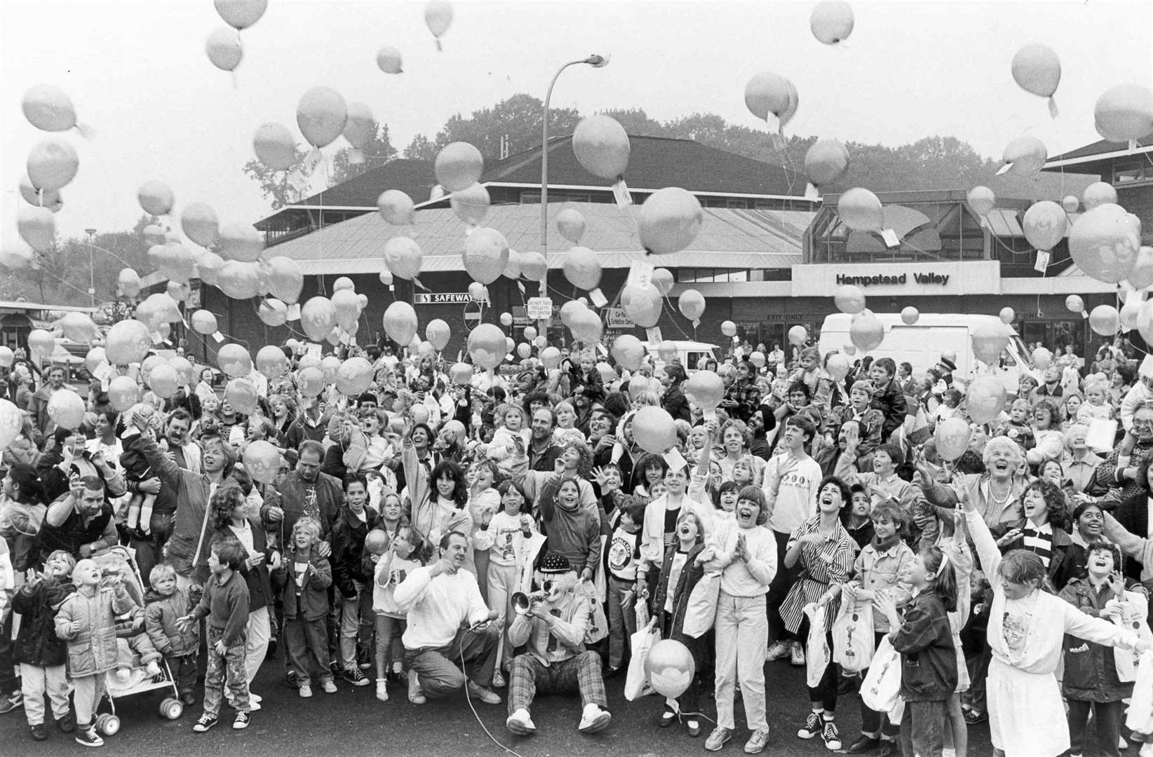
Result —
POLYGON ((1150 645, 1047 591, 1038 555, 1013 550, 1002 558, 969 497, 963 506, 981 569, 993 585, 987 631, 993 661, 986 686, 993 748, 998 757, 1056 757, 1069 749, 1069 725, 1054 675, 1064 635, 1139 651, 1150 645))

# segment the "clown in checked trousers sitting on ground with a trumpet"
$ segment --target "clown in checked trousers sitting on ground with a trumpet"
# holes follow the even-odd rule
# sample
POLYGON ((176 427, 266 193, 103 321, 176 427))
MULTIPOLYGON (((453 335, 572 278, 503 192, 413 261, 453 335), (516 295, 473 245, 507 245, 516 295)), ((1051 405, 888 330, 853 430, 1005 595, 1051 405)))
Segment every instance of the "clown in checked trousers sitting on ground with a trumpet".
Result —
POLYGON ((580 692, 581 733, 594 733, 609 725, 605 709, 601 658, 585 649, 585 633, 593 612, 591 599, 576 591, 576 574, 568 559, 548 554, 541 565, 542 595, 534 595, 528 614, 517 613, 508 627, 513 646, 528 644, 528 651, 512 661, 508 683, 508 730, 529 735, 536 732, 528 709, 537 690, 547 694, 580 692))

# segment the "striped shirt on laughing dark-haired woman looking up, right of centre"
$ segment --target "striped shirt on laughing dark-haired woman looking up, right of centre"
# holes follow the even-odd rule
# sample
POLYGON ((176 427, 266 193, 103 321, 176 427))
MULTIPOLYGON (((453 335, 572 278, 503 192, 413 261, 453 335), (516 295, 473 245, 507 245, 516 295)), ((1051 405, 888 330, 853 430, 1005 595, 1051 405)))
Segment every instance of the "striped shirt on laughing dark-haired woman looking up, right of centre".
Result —
MULTIPOLYGON (((796 529, 789 537, 789 547, 802 536, 821 532, 821 516, 811 517, 796 529)), ((801 610, 805 605, 815 603, 835 583, 846 583, 853 573, 853 558, 856 557, 856 542, 849 536, 849 531, 837 521, 832 530, 829 531, 824 540, 819 544, 806 544, 800 550, 798 565, 801 568, 800 576, 789 589, 789 595, 781 605, 781 620, 785 628, 796 634, 800 628, 805 613, 801 610)), ((832 620, 837 616, 841 605, 839 597, 824 606, 824 626, 832 628, 832 620)))

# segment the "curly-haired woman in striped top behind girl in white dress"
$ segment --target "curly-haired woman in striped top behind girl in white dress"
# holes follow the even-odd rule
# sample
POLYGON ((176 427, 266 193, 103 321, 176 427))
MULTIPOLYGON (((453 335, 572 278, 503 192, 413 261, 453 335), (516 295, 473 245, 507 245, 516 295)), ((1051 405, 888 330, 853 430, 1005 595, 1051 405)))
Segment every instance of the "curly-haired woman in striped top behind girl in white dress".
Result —
POLYGON ((1069 550, 1069 506, 1061 487, 1045 478, 1034 478, 1022 498, 1025 522, 997 539, 1002 552, 1025 550, 1041 558, 1054 589, 1061 591, 1073 577, 1069 550))

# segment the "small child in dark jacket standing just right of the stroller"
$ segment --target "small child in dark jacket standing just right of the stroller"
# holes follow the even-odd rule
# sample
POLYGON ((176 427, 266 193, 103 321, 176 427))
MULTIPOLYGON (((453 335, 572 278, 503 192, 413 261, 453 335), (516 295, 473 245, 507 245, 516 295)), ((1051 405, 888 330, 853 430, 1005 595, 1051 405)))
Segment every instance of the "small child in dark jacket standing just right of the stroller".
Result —
POLYGON ((144 596, 144 628, 156 651, 164 656, 168 671, 186 706, 196 703, 196 653, 199 634, 196 626, 181 629, 176 621, 191 612, 188 591, 176 583, 172 566, 160 563, 149 573, 149 592, 144 596))

